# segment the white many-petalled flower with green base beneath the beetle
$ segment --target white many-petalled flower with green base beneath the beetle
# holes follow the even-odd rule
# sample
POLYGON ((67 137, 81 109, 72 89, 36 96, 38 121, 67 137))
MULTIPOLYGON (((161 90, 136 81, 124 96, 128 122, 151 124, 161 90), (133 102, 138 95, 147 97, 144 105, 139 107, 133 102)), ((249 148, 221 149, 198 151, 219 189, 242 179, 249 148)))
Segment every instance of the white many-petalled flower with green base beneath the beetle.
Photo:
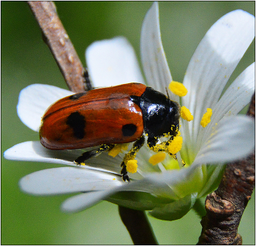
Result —
MULTIPOLYGON (((165 93, 173 78, 162 47, 158 15, 155 2, 143 22, 141 61, 147 85, 165 93)), ((179 164, 185 161, 184 167, 178 167, 170 156, 157 165, 149 164, 152 152, 144 146, 137 155, 138 172, 129 174, 132 182, 128 183, 119 175, 124 154, 113 158, 102 153, 79 167, 73 161, 83 150, 48 150, 40 142, 23 142, 7 150, 4 157, 69 167, 29 174, 20 180, 20 188, 35 195, 81 192, 64 201, 62 208, 69 212, 106 199, 138 210, 151 210, 151 215, 163 220, 181 218, 196 199, 216 188, 225 162, 243 158, 254 148, 254 120, 237 114, 255 91, 255 64, 247 67, 221 96, 254 39, 254 25, 255 18, 242 10, 220 18, 203 37, 189 62, 183 82, 187 96, 179 99, 169 92, 170 99, 187 107, 194 116, 190 122, 181 119, 183 146, 177 158, 179 164), (200 120, 207 108, 213 113, 211 122, 203 128, 200 120)), ((86 60, 94 86, 144 83, 135 52, 123 37, 94 42, 86 50, 86 60)), ((70 94, 50 85, 30 85, 20 92, 17 107, 20 120, 38 131, 47 107, 70 94)))

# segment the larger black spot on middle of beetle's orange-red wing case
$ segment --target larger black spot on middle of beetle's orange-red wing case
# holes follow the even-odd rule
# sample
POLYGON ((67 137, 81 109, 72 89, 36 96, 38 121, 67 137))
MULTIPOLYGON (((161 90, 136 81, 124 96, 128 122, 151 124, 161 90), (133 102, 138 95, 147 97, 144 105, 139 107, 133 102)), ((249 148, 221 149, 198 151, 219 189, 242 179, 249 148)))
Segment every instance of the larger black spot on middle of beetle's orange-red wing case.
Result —
POLYGON ((72 112, 67 118, 67 125, 69 125, 73 131, 74 136, 78 139, 83 139, 86 135, 86 119, 79 112, 72 112))

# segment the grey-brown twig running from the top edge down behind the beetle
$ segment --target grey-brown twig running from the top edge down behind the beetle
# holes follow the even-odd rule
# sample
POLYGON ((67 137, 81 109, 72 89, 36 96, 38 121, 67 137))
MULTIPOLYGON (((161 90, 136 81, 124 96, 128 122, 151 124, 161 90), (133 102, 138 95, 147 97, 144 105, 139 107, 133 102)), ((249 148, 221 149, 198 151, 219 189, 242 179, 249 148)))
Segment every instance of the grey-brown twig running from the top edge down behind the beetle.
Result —
POLYGON ((83 64, 59 19, 55 4, 53 1, 28 1, 28 3, 69 90, 85 91, 86 78, 83 76, 83 64))

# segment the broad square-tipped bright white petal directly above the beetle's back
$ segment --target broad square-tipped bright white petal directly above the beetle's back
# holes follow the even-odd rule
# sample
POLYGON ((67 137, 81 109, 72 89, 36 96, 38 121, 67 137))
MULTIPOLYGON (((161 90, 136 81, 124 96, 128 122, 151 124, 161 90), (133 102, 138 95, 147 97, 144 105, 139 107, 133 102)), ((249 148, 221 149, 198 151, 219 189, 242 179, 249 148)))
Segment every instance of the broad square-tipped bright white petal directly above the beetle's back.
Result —
POLYGON ((86 49, 86 63, 94 87, 144 83, 135 51, 124 37, 92 43, 86 49))

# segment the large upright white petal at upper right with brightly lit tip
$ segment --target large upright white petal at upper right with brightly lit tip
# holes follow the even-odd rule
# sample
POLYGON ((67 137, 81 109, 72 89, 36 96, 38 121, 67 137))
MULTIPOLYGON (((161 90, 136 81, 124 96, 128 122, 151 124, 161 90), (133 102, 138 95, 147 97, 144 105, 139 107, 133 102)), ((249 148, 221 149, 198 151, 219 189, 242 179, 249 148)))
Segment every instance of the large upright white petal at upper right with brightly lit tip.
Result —
POLYGON ((253 15, 235 10, 217 20, 195 50, 184 77, 189 93, 182 99, 183 105, 194 115, 189 124, 192 142, 196 142, 203 113, 217 103, 254 36, 253 15))

